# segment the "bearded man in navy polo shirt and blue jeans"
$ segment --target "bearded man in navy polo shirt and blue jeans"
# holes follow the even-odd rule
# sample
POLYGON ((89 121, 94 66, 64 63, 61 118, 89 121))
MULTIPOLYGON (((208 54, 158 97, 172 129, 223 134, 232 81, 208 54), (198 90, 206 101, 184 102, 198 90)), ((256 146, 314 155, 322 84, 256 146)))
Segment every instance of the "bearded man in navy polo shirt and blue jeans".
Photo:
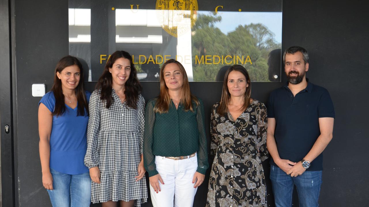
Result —
POLYGON ((304 48, 284 51, 288 83, 270 94, 267 147, 276 207, 292 206, 293 185, 300 207, 318 206, 323 157, 332 139, 334 108, 328 91, 306 78, 309 56, 304 48))

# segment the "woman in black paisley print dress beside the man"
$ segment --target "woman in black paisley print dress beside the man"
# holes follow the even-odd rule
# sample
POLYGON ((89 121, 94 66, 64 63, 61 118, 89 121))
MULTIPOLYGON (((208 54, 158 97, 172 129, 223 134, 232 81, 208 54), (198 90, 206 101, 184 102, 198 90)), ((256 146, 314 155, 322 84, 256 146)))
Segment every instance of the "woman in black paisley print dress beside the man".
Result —
POLYGON ((265 105, 250 98, 246 69, 231 66, 225 73, 221 101, 211 110, 210 171, 207 207, 266 207, 261 161, 266 149, 265 105))

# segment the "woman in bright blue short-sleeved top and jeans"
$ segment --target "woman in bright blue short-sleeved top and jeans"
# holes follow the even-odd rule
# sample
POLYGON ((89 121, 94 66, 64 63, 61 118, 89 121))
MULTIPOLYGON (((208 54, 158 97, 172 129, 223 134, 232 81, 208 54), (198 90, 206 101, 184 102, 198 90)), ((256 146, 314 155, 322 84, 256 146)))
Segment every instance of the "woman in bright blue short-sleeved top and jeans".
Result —
POLYGON ((56 65, 54 85, 38 108, 42 184, 54 207, 91 203, 91 179, 83 163, 90 95, 83 88, 81 63, 63 57, 56 65))

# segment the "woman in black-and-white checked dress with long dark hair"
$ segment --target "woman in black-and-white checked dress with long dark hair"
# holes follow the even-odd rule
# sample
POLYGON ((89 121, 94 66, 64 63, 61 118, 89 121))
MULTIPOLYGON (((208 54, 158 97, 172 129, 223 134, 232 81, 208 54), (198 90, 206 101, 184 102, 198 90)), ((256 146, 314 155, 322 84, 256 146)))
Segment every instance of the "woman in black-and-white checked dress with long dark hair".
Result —
POLYGON ((147 201, 142 157, 145 100, 131 55, 114 52, 96 88, 89 104, 85 156, 91 200, 103 207, 141 206, 147 201))

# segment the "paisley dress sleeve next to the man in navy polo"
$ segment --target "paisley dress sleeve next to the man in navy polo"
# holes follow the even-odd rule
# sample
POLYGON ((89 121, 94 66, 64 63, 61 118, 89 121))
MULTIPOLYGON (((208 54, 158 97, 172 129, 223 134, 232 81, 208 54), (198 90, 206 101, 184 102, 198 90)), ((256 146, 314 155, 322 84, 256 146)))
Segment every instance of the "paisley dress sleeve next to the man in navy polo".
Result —
POLYGON ((266 107, 264 103, 261 103, 261 108, 258 114, 258 137, 260 140, 256 147, 260 152, 261 161, 265 161, 269 157, 268 149, 266 148, 266 130, 268 128, 268 116, 266 114, 266 107))

